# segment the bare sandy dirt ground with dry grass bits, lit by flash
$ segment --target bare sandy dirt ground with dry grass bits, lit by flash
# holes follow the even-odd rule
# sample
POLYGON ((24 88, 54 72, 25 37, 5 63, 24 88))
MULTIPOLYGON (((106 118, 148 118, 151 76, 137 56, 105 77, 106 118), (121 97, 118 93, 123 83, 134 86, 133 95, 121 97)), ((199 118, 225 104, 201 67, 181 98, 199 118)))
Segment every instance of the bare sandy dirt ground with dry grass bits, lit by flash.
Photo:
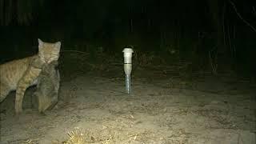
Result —
POLYGON ((15 117, 12 93, 1 103, 1 143, 256 143, 254 84, 158 75, 134 74, 130 95, 124 77, 114 74, 62 80, 58 105, 46 115, 27 90, 15 117))

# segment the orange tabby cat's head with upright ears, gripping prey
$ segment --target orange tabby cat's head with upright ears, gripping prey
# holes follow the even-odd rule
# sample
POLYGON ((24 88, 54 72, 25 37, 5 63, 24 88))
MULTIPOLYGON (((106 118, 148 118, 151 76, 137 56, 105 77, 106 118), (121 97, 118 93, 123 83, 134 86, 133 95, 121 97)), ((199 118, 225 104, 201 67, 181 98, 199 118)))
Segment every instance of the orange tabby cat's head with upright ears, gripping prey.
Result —
POLYGON ((38 55, 42 62, 50 63, 58 61, 59 52, 61 50, 61 42, 42 42, 38 38, 38 55))

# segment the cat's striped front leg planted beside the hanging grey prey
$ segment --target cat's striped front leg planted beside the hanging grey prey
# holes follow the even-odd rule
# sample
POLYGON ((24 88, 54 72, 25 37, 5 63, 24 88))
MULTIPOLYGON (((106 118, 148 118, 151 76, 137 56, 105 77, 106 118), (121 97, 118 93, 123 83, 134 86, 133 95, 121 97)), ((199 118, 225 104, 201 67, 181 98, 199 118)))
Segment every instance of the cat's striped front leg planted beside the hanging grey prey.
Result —
POLYGON ((15 113, 16 114, 19 114, 22 112, 22 101, 23 101, 26 88, 29 87, 36 78, 38 78, 38 75, 40 74, 40 72, 41 72, 41 69, 30 67, 28 70, 26 70, 26 73, 19 80, 17 90, 16 90, 16 96, 15 96, 15 113))

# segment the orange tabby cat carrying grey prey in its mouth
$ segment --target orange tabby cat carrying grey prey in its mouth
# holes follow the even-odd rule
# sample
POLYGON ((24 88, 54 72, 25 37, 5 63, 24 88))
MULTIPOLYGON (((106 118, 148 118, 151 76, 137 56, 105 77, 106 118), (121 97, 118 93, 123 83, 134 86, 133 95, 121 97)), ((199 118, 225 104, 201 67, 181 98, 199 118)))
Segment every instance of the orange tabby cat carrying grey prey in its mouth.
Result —
POLYGON ((38 54, 0 65, 0 102, 11 90, 16 90, 15 113, 22 112, 26 88, 37 84, 42 66, 58 61, 61 42, 42 42, 38 39, 38 54))

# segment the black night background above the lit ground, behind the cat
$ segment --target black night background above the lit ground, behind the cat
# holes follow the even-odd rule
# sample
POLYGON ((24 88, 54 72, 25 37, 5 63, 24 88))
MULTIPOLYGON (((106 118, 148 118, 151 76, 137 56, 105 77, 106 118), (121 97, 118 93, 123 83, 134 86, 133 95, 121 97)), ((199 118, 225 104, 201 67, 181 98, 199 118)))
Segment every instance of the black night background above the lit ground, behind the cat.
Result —
POLYGON ((0 23, 0 63, 36 54, 41 38, 61 41, 62 51, 122 57, 132 46, 167 64, 191 62, 192 70, 213 64, 218 72, 256 74, 249 0, 0 0, 0 23))

